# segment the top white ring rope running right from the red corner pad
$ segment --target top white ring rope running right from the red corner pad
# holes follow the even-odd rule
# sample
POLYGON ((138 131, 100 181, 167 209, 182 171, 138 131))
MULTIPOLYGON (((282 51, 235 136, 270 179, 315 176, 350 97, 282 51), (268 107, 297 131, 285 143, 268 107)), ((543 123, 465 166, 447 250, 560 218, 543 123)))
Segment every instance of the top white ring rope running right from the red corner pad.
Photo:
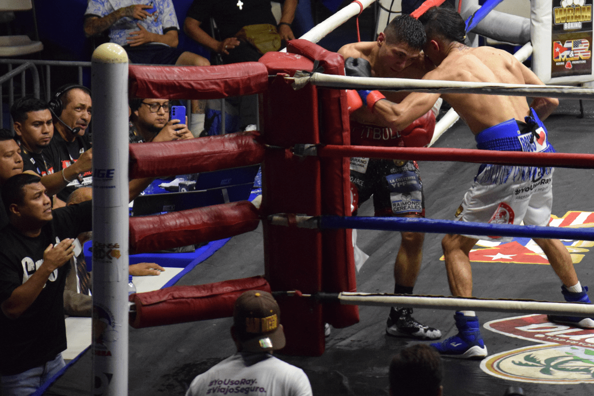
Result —
POLYGON ((492 84, 470 81, 415 80, 409 78, 348 77, 345 75, 330 75, 317 72, 304 77, 301 77, 302 74, 295 74, 295 76, 295 83, 293 83, 295 90, 310 83, 319 87, 339 89, 548 96, 594 100, 594 88, 568 87, 565 85, 492 84))

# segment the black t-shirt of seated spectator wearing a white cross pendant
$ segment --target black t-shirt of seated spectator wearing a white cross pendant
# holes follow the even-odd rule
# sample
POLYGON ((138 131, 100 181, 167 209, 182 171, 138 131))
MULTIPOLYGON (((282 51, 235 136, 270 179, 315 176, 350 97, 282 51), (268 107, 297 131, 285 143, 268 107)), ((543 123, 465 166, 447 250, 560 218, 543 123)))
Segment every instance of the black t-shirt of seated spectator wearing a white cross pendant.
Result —
POLYGON ((210 26, 213 17, 221 40, 235 36, 244 26, 261 23, 276 26, 269 0, 194 0, 187 16, 206 26, 210 26))

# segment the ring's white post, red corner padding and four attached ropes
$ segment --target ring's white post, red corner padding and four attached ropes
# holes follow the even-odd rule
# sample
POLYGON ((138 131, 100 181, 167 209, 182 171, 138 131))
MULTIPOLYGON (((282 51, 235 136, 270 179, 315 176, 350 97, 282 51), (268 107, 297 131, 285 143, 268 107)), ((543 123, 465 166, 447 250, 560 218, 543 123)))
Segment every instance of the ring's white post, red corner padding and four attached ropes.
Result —
MULTIPOLYGON (((386 79, 390 81, 384 82, 377 78, 360 82, 358 78, 342 77, 340 55, 305 40, 294 40, 289 43, 287 53, 268 53, 260 62, 210 66, 208 71, 182 66, 168 68, 168 72, 163 73, 163 68, 159 67, 131 66, 128 75, 124 57, 125 53, 114 45, 99 47, 93 55, 97 131, 93 183, 100 186, 93 193, 94 249, 119 251, 115 260, 97 260, 97 265, 93 265, 94 305, 101 313, 99 318, 93 319, 91 349, 96 394, 126 394, 128 391, 127 372, 119 369, 128 366, 128 316, 129 324, 134 328, 225 318, 231 315, 235 298, 248 289, 277 293, 287 335, 285 353, 321 355, 324 352, 324 323, 335 328, 356 324, 359 321, 356 307, 365 305, 365 297, 368 297, 365 293, 353 293, 356 277, 350 229, 433 233, 480 231, 481 235, 488 231, 489 235, 594 240, 594 233, 585 229, 551 230, 549 227, 454 224, 431 219, 352 217, 348 183, 347 157, 350 156, 548 164, 586 169, 594 168, 594 156, 349 146, 345 88, 443 92, 473 89, 490 94, 505 92, 526 96, 527 93, 539 93, 580 99, 592 94, 587 88, 493 87, 492 84, 469 88, 466 84, 451 82, 445 87, 439 81, 418 84, 419 81, 386 79), (320 66, 324 74, 315 72, 320 66), (295 78, 295 73, 300 71, 306 71, 308 75, 295 78), (299 78, 302 79, 300 83, 299 78), (300 89, 295 90, 294 83, 298 83, 300 89), (381 85, 384 83, 386 85, 381 85), (123 132, 128 129, 127 118, 122 110, 127 105, 128 94, 169 99, 221 99, 254 93, 261 94, 263 126, 260 132, 240 132, 187 142, 130 145, 129 151, 118 149, 128 144, 127 134, 123 132), (103 114, 113 116, 102 117, 103 114), (297 155, 305 146, 309 148, 309 155, 297 155), (216 205, 162 216, 130 218, 128 225, 127 221, 122 221, 128 218, 127 163, 130 164, 129 178, 207 172, 221 167, 262 163, 261 205, 247 201, 216 205), (131 298, 134 303, 131 314, 128 305, 122 304, 127 295, 128 252, 154 251, 241 235, 255 230, 260 223, 264 236, 263 276, 138 293, 131 298), (293 294, 301 294, 302 298, 283 295, 293 290, 299 290, 293 294), (96 322, 102 326, 96 326, 96 322)), ((371 294, 378 300, 384 299, 374 305, 429 306, 448 310, 468 307, 481 311, 491 306, 498 312, 594 314, 592 306, 568 303, 371 294), (437 302, 437 299, 440 300, 437 302)))

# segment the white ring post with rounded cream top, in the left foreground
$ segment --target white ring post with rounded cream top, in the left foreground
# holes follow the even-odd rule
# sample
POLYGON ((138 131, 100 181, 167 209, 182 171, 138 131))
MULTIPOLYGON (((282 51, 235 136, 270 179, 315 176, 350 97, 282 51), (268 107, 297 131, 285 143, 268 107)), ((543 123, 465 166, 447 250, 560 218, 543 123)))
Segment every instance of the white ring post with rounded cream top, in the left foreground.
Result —
POLYGON ((128 55, 91 59, 93 87, 93 394, 128 394, 128 55))

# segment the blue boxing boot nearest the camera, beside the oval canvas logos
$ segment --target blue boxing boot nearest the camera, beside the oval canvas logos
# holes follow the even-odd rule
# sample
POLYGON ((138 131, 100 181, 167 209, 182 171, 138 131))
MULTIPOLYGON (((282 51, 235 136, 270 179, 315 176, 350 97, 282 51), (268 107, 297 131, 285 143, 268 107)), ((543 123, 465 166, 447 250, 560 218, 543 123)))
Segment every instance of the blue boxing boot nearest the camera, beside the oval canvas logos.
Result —
POLYGON ((458 334, 441 343, 431 344, 444 356, 459 359, 482 359, 486 356, 486 347, 481 337, 479 319, 465 316, 462 312, 454 315, 458 334))

